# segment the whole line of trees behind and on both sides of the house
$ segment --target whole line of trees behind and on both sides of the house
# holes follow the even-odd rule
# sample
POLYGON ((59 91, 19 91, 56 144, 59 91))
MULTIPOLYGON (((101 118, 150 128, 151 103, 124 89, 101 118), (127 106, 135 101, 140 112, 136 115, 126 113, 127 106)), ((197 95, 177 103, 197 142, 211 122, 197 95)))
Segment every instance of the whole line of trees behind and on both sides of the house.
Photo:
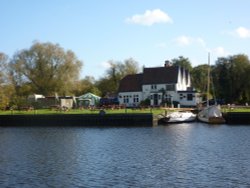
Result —
MULTIPOLYGON (((34 42, 29 49, 16 52, 12 58, 0 52, 0 108, 23 105, 28 95, 79 96, 92 92, 99 96, 116 95, 120 80, 142 71, 133 58, 108 61, 103 77, 80 79, 83 62, 71 50, 58 44, 34 42)), ((208 64, 192 67, 188 58, 172 59, 173 66, 190 71, 192 85, 205 93, 208 64)), ((250 61, 244 54, 218 58, 211 66, 212 93, 227 103, 250 101, 250 61)))

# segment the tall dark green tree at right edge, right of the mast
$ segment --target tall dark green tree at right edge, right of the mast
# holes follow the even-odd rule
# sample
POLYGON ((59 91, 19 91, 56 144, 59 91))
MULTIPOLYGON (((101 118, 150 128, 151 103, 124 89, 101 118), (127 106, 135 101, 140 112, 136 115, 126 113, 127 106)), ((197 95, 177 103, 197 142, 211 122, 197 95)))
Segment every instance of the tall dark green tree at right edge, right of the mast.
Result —
POLYGON ((229 103, 250 101, 250 61, 244 54, 219 58, 213 71, 216 89, 229 103))

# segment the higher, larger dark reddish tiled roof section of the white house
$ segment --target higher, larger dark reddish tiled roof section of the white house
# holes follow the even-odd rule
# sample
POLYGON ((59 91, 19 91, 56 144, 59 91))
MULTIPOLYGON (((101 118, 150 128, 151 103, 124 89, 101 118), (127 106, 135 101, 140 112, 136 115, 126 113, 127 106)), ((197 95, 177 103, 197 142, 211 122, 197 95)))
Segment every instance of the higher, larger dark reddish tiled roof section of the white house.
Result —
POLYGON ((143 84, 177 83, 179 67, 144 68, 143 84))

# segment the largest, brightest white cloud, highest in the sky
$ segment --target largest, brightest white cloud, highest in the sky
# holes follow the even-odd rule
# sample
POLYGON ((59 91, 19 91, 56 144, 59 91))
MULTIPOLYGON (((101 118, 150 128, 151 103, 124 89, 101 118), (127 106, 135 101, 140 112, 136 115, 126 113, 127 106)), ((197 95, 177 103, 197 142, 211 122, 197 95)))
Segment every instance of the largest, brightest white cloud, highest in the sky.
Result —
POLYGON ((144 14, 136 14, 126 19, 127 23, 151 26, 155 23, 172 23, 167 13, 160 9, 146 10, 144 14))

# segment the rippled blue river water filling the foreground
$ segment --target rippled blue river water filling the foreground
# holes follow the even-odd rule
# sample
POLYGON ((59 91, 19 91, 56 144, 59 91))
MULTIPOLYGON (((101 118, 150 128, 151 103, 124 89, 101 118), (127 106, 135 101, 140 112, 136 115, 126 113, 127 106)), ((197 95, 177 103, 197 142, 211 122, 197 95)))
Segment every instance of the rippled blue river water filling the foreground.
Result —
POLYGON ((0 187, 250 187, 250 126, 0 127, 0 187))

